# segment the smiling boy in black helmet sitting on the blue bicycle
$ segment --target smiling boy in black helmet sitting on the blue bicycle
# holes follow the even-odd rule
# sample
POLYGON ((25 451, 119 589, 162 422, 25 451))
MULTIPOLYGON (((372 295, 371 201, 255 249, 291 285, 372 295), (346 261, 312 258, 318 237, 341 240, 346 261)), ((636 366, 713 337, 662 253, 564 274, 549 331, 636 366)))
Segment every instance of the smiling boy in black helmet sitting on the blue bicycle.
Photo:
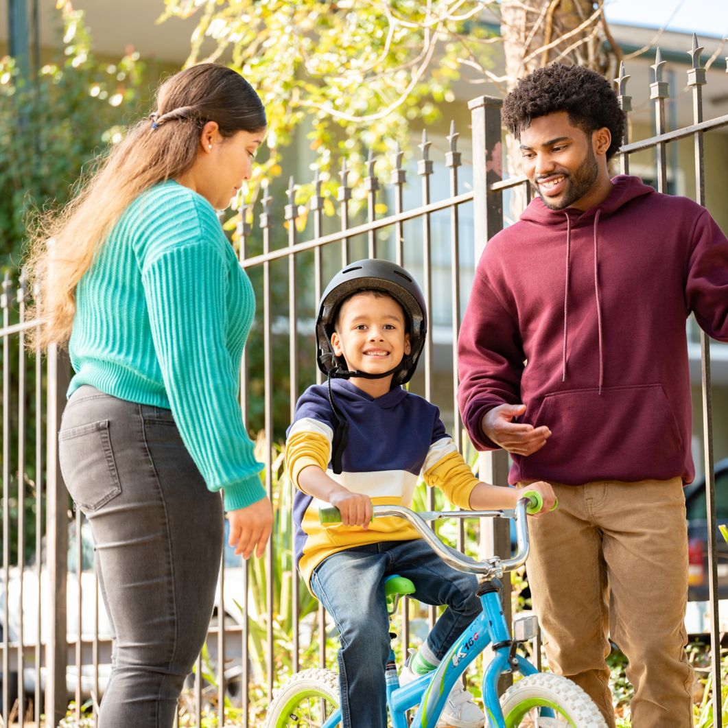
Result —
MULTIPOLYGON (((448 436, 435 405, 407 392, 427 335, 424 298, 405 269, 363 260, 333 277, 316 323, 318 364, 328 383, 309 387, 288 429, 287 468, 296 486, 298 569, 339 630, 339 689, 344 728, 386 728, 384 668, 389 617, 384 579, 411 579, 425 604, 447 605, 400 683, 434 670, 480 612, 471 574, 447 566, 405 521, 371 523, 372 505, 411 504, 420 475, 455 505, 512 508, 517 488, 481 483, 448 436), (329 504, 341 523, 323 526, 329 504)), ((544 508, 548 483, 530 486, 544 508)), ((460 684, 438 725, 480 728, 485 716, 460 684)))

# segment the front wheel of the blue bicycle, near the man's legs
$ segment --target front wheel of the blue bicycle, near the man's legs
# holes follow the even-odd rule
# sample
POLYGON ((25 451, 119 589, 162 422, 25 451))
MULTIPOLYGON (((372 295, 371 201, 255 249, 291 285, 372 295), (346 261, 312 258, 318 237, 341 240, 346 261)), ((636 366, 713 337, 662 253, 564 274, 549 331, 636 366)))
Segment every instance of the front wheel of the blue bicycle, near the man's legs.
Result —
POLYGON ((502 695, 501 709, 507 728, 606 728, 591 698, 553 673, 519 680, 502 695))

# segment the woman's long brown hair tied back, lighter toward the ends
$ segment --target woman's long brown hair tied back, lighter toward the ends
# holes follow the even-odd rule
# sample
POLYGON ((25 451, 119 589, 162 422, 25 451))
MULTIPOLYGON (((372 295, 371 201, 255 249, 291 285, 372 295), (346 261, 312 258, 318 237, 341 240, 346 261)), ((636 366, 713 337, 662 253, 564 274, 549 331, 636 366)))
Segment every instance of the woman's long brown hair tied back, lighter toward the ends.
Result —
POLYGON ((37 284, 33 313, 44 320, 41 347, 68 342, 76 285, 100 246, 139 194, 191 169, 208 121, 217 122, 223 137, 266 126, 253 87, 216 63, 200 63, 167 79, 157 92, 157 111, 130 127, 123 141, 96 161, 76 183, 68 205, 36 221, 25 265, 31 284, 37 284))

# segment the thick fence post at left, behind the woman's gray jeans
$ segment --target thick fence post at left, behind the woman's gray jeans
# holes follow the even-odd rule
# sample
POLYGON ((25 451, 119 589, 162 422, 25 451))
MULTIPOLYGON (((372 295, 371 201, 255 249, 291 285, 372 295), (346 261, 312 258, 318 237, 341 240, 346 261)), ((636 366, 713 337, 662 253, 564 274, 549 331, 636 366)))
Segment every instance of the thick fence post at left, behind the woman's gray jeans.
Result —
MULTIPOLYGON (((55 728, 66 715, 66 573, 68 569, 68 492, 58 464, 58 427, 66 404, 69 377, 68 355, 55 344, 47 355, 47 510, 46 569, 48 611, 52 614, 46 643, 46 728, 55 728)), ((80 577, 80 574, 79 574, 80 577)), ((80 638, 80 636, 79 636, 80 638)), ((79 676, 80 679, 80 676, 79 676)))

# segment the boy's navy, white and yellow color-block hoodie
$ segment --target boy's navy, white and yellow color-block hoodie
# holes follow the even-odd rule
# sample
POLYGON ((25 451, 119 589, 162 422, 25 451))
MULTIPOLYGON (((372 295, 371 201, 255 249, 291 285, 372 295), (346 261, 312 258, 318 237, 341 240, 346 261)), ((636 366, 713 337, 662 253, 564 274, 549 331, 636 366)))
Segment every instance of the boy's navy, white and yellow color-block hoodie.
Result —
POLYGON ((305 467, 317 465, 352 493, 367 494, 374 505, 409 507, 422 475, 428 486, 440 488, 451 503, 468 508, 472 489, 478 485, 435 405, 402 387, 381 397, 371 397, 344 379, 333 379, 331 388, 349 423, 349 443, 341 459, 343 472, 336 474, 331 469, 336 418, 325 384, 309 387, 301 395, 285 445, 286 467, 296 486, 296 563, 306 584, 314 569, 333 553, 420 536, 407 521, 395 516, 375 518, 366 530, 343 523, 322 526, 318 512, 328 503, 301 490, 298 475, 305 467))

